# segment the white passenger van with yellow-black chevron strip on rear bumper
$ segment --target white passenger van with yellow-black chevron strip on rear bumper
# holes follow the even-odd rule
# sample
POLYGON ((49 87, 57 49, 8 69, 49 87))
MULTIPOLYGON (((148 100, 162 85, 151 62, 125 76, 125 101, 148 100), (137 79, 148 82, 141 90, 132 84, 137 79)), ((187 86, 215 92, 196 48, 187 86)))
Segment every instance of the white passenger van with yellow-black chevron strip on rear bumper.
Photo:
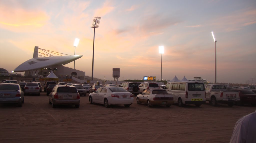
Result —
POLYGON ((205 103, 204 82, 168 82, 164 89, 173 95, 174 103, 178 103, 180 107, 183 107, 184 104, 195 104, 196 107, 200 107, 205 103))

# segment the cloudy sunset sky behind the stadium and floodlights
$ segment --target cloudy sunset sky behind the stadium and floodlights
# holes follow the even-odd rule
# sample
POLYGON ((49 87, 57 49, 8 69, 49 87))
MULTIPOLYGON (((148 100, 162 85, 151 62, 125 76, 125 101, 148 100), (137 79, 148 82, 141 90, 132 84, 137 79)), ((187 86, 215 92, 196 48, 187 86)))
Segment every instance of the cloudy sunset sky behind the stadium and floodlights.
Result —
MULTIPOLYGON (((255 0, 0 0, 1 68, 9 72, 33 58, 34 47, 74 54, 76 69, 93 77, 161 79, 202 77, 256 82, 255 0), (158 47, 164 46, 164 54, 158 47), (8 59, 8 60, 7 60, 8 59)), ((39 50, 40 51, 40 50, 39 50)), ((65 65, 73 68, 73 62, 65 65)))

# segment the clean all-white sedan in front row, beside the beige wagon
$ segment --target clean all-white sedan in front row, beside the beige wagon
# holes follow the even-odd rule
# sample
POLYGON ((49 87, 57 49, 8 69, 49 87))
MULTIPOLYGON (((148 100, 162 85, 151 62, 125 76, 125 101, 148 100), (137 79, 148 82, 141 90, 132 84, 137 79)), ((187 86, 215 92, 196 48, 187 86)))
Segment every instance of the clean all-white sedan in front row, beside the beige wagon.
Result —
POLYGON ((89 94, 89 102, 104 104, 107 108, 110 105, 130 107, 133 103, 133 94, 121 87, 100 87, 89 94))

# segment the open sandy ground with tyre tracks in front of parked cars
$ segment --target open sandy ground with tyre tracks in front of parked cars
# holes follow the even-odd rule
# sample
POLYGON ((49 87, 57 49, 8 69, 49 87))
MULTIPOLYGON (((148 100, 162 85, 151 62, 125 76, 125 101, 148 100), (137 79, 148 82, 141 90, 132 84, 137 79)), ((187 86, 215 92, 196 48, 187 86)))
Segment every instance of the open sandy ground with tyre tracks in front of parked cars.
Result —
POLYGON ((52 108, 48 96, 25 96, 22 108, 0 104, 0 142, 229 142, 236 121, 253 106, 208 103, 170 108, 134 103, 126 108, 89 104, 52 108))

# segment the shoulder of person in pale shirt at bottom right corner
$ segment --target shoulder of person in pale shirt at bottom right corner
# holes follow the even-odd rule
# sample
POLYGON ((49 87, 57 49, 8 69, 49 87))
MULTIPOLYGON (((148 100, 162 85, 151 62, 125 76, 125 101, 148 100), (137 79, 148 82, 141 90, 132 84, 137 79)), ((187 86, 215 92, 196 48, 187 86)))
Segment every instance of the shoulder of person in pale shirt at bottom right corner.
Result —
POLYGON ((229 143, 256 143, 256 110, 236 122, 229 143))

